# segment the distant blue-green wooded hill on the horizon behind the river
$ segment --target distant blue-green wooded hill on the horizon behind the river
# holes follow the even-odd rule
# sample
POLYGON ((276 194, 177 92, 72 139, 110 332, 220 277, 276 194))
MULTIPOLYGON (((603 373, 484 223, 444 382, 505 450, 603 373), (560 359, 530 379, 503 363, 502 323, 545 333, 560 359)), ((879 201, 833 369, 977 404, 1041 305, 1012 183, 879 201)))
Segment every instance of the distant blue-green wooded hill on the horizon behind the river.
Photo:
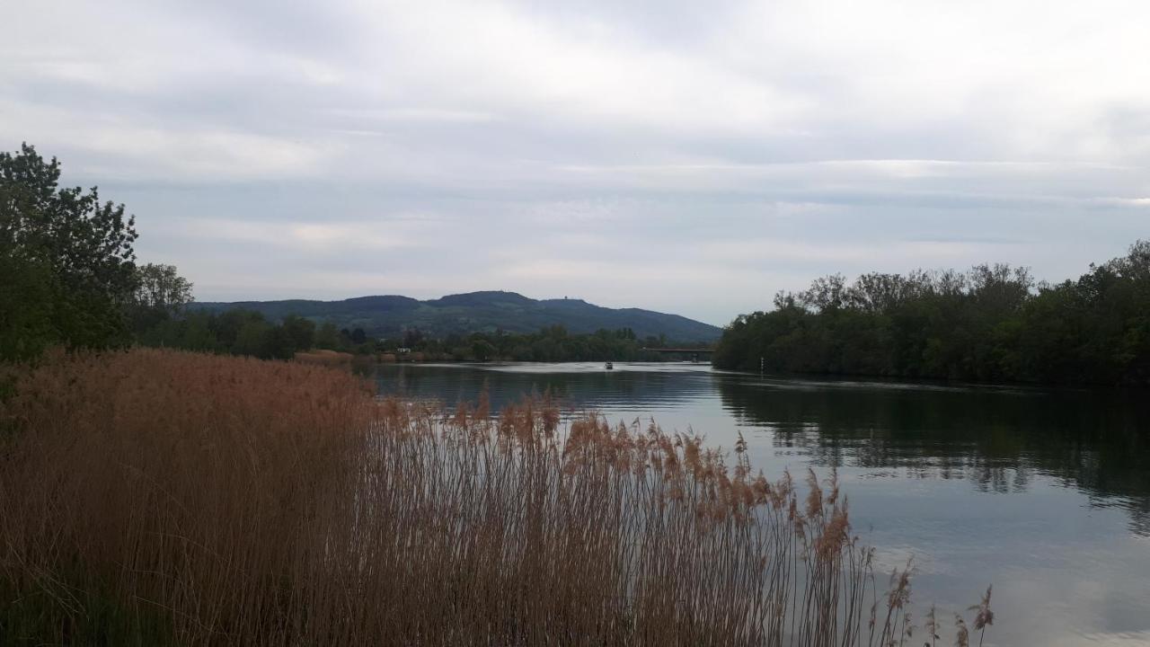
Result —
POLYGON ((344 300, 200 302, 194 307, 214 311, 243 307, 262 312, 273 320, 298 314, 317 322, 331 321, 340 328, 363 328, 376 337, 399 335, 407 328, 445 336, 497 329, 534 333, 555 325, 572 333, 630 328, 639 338, 666 335, 668 340, 681 342, 713 342, 722 333, 715 326, 677 314, 637 307, 601 307, 583 299, 537 300, 500 291, 448 295, 430 300, 375 296, 344 300))

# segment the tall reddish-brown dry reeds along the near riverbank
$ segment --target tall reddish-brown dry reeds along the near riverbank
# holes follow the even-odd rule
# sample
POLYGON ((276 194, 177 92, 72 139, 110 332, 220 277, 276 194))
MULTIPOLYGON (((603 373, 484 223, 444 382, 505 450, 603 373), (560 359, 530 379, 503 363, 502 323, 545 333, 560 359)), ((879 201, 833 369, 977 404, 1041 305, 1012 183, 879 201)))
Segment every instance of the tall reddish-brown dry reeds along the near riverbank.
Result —
POLYGON ((345 372, 161 350, 52 357, 2 414, 0 644, 846 647, 911 629, 907 574, 879 592, 834 477, 768 481, 742 441, 728 457, 564 425, 545 399, 445 416, 345 372))

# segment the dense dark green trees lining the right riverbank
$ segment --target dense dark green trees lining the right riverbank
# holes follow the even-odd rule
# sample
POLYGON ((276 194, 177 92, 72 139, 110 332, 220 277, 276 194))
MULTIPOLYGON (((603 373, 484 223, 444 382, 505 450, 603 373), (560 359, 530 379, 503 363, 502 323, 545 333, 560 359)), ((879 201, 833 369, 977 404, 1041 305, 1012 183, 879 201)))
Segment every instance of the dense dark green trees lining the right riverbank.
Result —
POLYGON ((724 328, 716 367, 1150 385, 1150 241, 1061 283, 1005 264, 835 274, 774 306, 724 328))

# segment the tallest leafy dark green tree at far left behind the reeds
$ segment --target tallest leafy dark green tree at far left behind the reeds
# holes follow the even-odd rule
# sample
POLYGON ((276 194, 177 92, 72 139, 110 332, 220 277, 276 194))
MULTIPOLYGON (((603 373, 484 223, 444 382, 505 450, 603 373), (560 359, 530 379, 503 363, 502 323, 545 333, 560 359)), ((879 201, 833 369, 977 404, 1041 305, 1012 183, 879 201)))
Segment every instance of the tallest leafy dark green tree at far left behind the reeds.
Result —
POLYGON ((0 153, 0 359, 129 341, 135 219, 59 181, 60 162, 28 144, 0 153))

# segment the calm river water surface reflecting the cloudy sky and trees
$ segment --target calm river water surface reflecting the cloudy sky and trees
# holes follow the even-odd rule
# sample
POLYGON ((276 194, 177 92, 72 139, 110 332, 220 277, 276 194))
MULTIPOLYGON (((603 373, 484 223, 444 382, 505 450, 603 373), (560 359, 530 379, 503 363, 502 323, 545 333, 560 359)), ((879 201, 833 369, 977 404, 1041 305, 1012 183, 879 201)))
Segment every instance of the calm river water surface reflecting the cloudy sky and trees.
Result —
POLYGON ((692 364, 381 365, 376 379, 383 394, 448 405, 486 385, 493 409, 550 389, 570 410, 653 417, 727 448, 741 431, 768 477, 837 467, 881 564, 914 557, 917 604, 949 618, 992 583, 987 645, 1150 645, 1145 391, 760 378, 692 364))

